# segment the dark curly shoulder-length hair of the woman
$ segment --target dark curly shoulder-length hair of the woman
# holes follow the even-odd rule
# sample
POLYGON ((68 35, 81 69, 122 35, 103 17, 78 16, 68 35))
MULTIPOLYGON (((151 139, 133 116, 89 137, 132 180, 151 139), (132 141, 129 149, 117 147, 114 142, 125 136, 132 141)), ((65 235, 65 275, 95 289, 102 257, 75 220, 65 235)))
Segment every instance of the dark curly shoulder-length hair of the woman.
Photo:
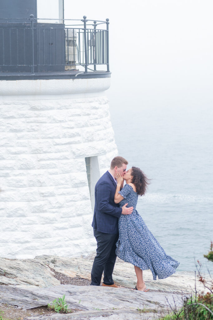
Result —
POLYGON ((150 183, 150 179, 147 178, 145 173, 141 171, 141 169, 132 167, 131 170, 132 183, 135 185, 136 191, 139 196, 143 196, 147 191, 148 184, 150 183))

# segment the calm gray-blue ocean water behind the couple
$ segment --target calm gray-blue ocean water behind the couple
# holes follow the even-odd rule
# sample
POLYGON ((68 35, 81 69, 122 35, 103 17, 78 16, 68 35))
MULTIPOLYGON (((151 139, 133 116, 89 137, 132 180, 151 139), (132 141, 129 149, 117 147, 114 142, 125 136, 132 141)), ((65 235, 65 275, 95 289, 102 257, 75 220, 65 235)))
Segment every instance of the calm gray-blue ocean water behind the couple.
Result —
POLYGON ((119 155, 151 183, 137 210, 179 271, 213 273, 213 108, 113 105, 119 155))

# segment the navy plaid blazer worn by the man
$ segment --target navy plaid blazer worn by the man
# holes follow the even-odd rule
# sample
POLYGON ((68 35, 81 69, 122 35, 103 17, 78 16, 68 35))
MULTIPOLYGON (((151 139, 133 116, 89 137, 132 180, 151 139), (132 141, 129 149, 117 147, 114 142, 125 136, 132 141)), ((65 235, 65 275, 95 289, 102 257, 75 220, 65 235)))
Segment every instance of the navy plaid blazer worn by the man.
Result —
POLYGON ((118 218, 122 209, 115 204, 116 183, 107 171, 95 185, 95 209, 92 227, 103 233, 118 233, 118 218))

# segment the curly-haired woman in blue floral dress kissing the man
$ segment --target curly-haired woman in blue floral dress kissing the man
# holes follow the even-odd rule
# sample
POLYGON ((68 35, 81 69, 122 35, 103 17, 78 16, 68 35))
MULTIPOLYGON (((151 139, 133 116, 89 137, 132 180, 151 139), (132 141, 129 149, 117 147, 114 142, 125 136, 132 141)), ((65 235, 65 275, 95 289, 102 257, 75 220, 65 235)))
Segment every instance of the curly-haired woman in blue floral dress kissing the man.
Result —
POLYGON ((148 178, 136 167, 129 169, 123 177, 116 172, 117 188, 114 201, 120 207, 128 203, 128 207, 133 206, 133 213, 121 215, 118 221, 119 239, 116 244, 117 256, 134 265, 137 276, 136 290, 148 291, 143 281, 143 271, 150 269, 153 279, 164 279, 171 276, 179 266, 179 262, 168 256, 156 238, 147 228, 145 222, 138 214, 136 204, 138 196, 145 194, 148 178), (126 185, 120 190, 123 180, 126 185))

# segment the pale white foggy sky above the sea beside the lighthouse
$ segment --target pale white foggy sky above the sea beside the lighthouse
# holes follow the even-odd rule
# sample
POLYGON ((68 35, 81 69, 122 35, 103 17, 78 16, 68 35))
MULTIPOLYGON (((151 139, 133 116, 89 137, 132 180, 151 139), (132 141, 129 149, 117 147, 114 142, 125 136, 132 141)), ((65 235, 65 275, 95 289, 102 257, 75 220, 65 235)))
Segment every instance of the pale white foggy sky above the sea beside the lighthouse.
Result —
MULTIPOLYGON (((38 16, 57 16, 57 0, 38 16), (43 14, 43 13, 42 13, 43 14)), ((42 8, 42 9, 41 9, 42 8)), ((111 87, 116 105, 211 105, 212 0, 65 0, 65 19, 110 19, 111 87)))

